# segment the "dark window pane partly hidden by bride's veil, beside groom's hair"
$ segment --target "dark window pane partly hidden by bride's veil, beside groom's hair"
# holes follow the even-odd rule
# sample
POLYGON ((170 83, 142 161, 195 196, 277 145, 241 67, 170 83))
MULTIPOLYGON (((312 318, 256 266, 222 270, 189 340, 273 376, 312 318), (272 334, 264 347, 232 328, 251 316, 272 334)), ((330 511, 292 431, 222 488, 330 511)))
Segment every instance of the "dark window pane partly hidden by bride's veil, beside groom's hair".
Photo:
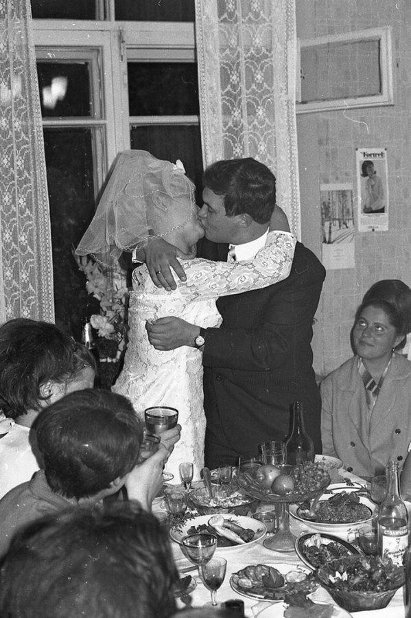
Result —
POLYGON ((148 125, 131 127, 131 148, 148 150, 157 159, 183 162, 187 176, 200 188, 202 176, 199 126, 148 125))

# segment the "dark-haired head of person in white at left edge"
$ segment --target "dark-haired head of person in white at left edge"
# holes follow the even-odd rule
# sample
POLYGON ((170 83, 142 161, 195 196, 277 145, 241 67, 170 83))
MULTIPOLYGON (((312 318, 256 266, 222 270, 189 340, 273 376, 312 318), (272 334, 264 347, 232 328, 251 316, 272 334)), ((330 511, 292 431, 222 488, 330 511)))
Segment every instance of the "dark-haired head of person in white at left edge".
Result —
POLYGON ((55 324, 25 318, 0 327, 0 408, 10 418, 40 410, 48 382, 67 386, 84 368, 77 344, 55 324))

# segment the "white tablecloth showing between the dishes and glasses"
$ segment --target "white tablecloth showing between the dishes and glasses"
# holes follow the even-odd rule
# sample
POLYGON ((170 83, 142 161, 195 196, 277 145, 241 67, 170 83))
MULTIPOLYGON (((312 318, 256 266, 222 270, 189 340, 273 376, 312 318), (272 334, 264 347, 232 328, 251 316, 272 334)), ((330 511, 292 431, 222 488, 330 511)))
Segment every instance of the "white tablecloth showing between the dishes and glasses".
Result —
MULTIPOLYGON (((360 482, 364 484, 364 479, 360 479, 360 477, 355 476, 351 472, 347 472, 344 468, 340 468, 340 470, 333 471, 333 475, 331 476, 331 482, 336 483, 338 479, 351 479, 354 482, 360 482)), ((199 481, 201 484, 202 481, 199 481)), ((408 509, 411 510, 411 503, 408 503, 408 509)), ((274 505, 272 504, 264 504, 260 503, 257 511, 267 511, 273 510, 274 505)), ((156 506, 156 514, 161 516, 161 511, 165 510, 164 503, 160 503, 156 506)), ((307 532, 312 532, 313 530, 309 529, 305 523, 296 518, 290 517, 290 531, 296 538, 307 532)), ((172 540, 172 551, 174 554, 174 558, 176 560, 176 564, 182 562, 184 560, 183 552, 180 549, 180 545, 178 542, 172 540)), ((251 543, 250 545, 239 545, 235 547, 235 550, 228 548, 218 548, 216 556, 222 556, 227 561, 226 567, 226 576, 222 586, 217 591, 217 601, 218 607, 220 604, 225 602, 228 599, 242 599, 244 602, 244 611, 245 615, 248 618, 257 618, 261 614, 261 618, 279 618, 283 616, 283 612, 279 612, 279 608, 275 607, 279 602, 267 602, 260 601, 259 599, 250 598, 244 595, 239 595, 239 593, 235 592, 233 588, 231 588, 230 578, 231 575, 240 569, 244 569, 250 564, 269 564, 275 567, 276 564, 290 564, 290 571, 293 570, 293 567, 304 567, 307 569, 307 566, 302 562, 302 560, 298 557, 296 551, 290 552, 280 552, 273 551, 267 549, 263 545, 263 538, 261 538, 258 542, 251 543), (272 608, 269 610, 268 608, 272 608)), ((210 592, 202 583, 200 575, 198 575, 197 567, 194 567, 190 573, 184 573, 181 575, 190 574, 195 580, 195 588, 191 592, 188 597, 183 597, 182 599, 178 599, 178 606, 182 608, 183 606, 193 606, 200 607, 210 602, 210 592)), ((194 585, 194 583, 192 584, 194 585)), ((333 601, 329 593, 322 588, 321 586, 309 597, 314 602, 325 602, 336 605, 336 602, 333 601)), ((399 588, 399 590, 395 593, 395 596, 392 597, 390 603, 386 608, 379 610, 369 610, 369 611, 361 611, 361 612, 351 612, 351 615, 355 616, 355 618, 404 618, 405 617, 405 586, 399 588)), ((347 614, 345 614, 347 616, 347 614)), ((334 614, 333 614, 334 617, 334 614)))

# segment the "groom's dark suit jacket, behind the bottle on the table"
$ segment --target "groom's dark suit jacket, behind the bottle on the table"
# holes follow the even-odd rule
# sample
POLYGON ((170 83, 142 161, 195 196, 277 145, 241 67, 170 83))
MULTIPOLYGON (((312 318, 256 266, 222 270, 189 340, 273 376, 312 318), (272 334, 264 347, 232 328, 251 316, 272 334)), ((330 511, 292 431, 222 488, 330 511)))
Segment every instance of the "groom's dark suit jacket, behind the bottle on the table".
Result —
POLYGON ((203 352, 206 466, 258 453, 289 433, 290 404, 305 404, 305 429, 321 453, 321 400, 312 369, 312 323, 325 268, 298 242, 290 276, 218 299, 223 323, 203 352))

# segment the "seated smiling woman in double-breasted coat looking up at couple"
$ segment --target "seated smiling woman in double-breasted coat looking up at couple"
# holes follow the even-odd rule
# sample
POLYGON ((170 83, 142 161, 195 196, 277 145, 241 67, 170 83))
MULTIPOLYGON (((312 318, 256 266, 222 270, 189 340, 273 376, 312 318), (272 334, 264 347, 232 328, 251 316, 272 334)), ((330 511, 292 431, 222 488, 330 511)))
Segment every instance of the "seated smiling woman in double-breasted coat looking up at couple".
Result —
POLYGON ((411 441, 411 363, 397 354, 410 332, 411 290, 378 282, 355 314, 355 356, 320 386, 323 453, 360 477, 403 466, 411 441))

